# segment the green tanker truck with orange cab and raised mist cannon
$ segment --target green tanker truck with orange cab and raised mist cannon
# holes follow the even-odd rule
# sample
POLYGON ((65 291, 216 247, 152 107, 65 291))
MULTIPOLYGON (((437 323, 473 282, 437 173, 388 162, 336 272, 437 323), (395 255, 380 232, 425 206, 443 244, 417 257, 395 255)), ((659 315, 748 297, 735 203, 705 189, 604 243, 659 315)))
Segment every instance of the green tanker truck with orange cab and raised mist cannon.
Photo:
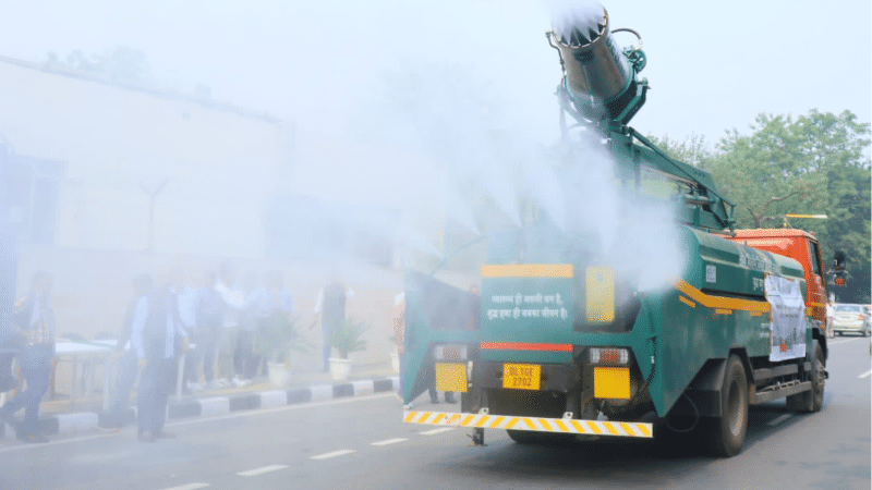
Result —
MULTIPOLYGON (((565 73, 557 91, 565 139, 576 145, 581 127, 608 155, 621 199, 609 223, 618 243, 604 245, 596 223, 567 226, 533 206, 520 228, 476 243, 486 248, 476 287, 409 272, 404 421, 468 427, 480 444, 484 429, 522 443, 701 431, 712 454, 735 455, 749 405, 786 399, 798 412, 822 407, 825 292, 808 279, 823 274, 820 247, 801 231, 780 236, 802 245, 794 258, 767 252, 762 238, 746 245, 755 233, 734 230, 734 205, 711 175, 627 126, 647 90, 637 76, 641 49, 617 48, 605 10, 571 19, 548 33, 565 73), (668 240, 633 226, 634 209, 663 203, 674 216, 662 226, 668 240), (632 257, 611 253, 625 240, 667 247, 668 257, 629 267, 632 257), (663 261, 677 267, 649 280, 663 261), (434 383, 461 394, 459 412, 411 405, 434 383)), ((577 151, 582 161, 585 151, 577 151)))

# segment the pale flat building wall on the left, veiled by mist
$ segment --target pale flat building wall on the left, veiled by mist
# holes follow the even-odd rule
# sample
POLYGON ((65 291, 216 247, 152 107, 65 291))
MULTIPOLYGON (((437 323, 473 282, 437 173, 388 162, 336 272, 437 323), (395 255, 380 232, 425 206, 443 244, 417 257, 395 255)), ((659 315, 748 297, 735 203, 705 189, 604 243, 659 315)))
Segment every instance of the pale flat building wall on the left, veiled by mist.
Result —
POLYGON ((280 121, 207 100, 0 60, 0 135, 63 162, 55 245, 258 257, 266 197, 290 164, 280 121))

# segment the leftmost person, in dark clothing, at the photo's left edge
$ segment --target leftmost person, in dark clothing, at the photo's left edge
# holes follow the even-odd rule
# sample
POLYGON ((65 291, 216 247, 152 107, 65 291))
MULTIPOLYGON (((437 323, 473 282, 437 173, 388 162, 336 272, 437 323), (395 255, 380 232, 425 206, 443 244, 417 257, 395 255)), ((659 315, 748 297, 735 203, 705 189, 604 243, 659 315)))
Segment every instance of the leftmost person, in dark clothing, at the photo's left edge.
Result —
POLYGON ((16 432, 25 442, 48 442, 39 428, 39 405, 48 391, 55 357, 55 311, 50 303, 51 275, 34 273, 31 292, 15 305, 12 330, 17 334, 21 373, 27 389, 0 407, 0 424, 24 408, 24 421, 16 432))

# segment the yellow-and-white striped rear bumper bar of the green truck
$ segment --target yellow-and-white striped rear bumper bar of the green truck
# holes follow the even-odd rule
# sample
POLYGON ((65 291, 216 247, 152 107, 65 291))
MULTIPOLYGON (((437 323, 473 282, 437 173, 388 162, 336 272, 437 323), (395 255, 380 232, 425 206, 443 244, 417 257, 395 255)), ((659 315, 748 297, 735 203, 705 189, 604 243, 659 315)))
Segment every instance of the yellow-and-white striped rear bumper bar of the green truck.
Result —
POLYGON ((422 424, 426 426, 530 430, 535 432, 574 433, 584 436, 651 438, 654 434, 653 425, 644 422, 516 417, 509 415, 458 414, 451 412, 409 411, 403 413, 403 421, 405 424, 422 424))

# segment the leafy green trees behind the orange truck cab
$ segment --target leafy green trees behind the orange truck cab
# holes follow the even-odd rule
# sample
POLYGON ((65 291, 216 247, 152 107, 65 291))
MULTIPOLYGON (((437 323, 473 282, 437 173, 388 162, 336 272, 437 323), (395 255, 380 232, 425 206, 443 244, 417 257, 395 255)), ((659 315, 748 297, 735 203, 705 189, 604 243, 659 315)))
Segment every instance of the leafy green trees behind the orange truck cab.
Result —
POLYGON ((850 111, 811 110, 796 119, 760 114, 750 134, 727 132, 714 149, 693 136, 657 144, 712 172, 718 191, 737 204, 737 228, 779 228, 789 213, 827 215, 789 224, 818 236, 825 265, 834 250, 848 255, 848 286, 836 290, 841 301, 872 302, 869 123, 850 111))

